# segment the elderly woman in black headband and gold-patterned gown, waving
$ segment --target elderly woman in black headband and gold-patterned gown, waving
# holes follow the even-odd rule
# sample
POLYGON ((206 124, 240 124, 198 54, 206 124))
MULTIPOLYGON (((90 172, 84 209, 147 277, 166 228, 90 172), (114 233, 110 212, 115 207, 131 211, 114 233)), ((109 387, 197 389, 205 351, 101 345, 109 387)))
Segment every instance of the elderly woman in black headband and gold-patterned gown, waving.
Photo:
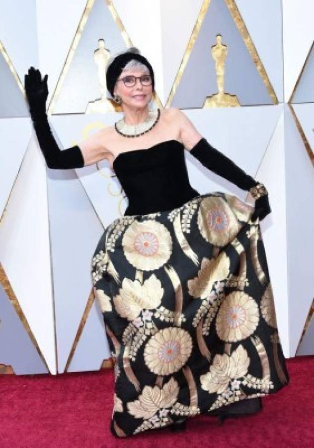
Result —
POLYGON ((31 68, 25 91, 47 165, 107 159, 128 198, 91 262, 94 293, 115 359, 111 431, 125 437, 197 414, 257 412, 289 381, 278 336, 259 221, 265 187, 200 135, 176 108, 149 110, 154 72, 136 48, 112 57, 108 91, 123 117, 60 150, 45 104, 47 75, 31 68), (185 151, 250 191, 255 207, 189 183, 185 151))

